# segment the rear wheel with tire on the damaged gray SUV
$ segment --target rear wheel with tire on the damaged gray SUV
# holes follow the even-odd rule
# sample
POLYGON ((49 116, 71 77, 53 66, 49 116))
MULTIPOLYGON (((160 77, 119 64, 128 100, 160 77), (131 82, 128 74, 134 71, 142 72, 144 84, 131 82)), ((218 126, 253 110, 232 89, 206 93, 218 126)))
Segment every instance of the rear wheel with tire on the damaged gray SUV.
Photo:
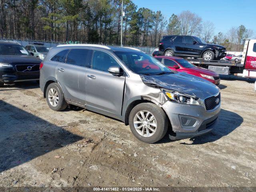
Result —
POLYGON ((58 83, 51 83, 46 89, 46 101, 48 106, 54 111, 62 111, 68 104, 58 83))

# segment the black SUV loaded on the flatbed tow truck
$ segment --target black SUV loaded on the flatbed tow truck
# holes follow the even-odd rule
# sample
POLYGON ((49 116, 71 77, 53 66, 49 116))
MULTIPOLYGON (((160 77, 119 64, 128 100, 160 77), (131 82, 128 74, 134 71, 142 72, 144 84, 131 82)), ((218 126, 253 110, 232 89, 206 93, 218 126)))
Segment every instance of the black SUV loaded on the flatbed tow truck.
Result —
POLYGON ((164 36, 159 53, 165 56, 203 58, 204 61, 219 60, 226 55, 224 46, 207 44, 195 36, 164 36))

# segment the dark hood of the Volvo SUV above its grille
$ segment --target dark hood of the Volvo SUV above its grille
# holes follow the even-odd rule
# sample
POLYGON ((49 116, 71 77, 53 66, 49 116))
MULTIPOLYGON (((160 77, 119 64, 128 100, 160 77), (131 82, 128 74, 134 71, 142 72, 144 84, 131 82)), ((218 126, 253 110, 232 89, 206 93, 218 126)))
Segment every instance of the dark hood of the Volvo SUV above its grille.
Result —
POLYGON ((40 64, 42 60, 30 55, 0 55, 0 62, 8 63, 8 64, 15 64, 15 63, 38 63, 40 64))

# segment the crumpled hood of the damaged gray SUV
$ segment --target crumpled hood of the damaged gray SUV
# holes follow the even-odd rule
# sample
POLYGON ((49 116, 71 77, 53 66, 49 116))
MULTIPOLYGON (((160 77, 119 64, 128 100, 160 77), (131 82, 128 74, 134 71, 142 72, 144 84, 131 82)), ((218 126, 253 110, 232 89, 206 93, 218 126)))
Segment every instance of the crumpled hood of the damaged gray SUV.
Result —
POLYGON ((201 99, 219 92, 219 88, 211 82, 182 72, 158 76, 140 76, 142 81, 148 86, 157 86, 167 90, 175 90, 201 99))

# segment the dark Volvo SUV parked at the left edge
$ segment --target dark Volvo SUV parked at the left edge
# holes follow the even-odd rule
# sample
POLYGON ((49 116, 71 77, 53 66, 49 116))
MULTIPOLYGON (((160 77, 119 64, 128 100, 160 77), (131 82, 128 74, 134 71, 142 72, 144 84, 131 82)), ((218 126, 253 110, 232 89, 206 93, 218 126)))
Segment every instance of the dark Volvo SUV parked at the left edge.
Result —
POLYGON ((0 42, 0 86, 39 80, 41 61, 17 42, 0 42))

